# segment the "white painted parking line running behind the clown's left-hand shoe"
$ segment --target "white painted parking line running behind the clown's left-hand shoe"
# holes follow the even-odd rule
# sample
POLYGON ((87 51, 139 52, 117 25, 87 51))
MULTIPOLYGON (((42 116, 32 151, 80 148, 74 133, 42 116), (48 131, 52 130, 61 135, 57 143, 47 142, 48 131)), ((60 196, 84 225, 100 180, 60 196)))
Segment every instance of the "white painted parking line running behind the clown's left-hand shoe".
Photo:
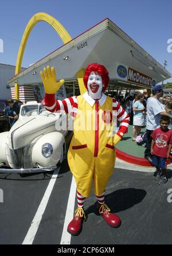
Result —
POLYGON ((71 190, 69 193, 67 212, 65 215, 65 222, 61 236, 60 244, 71 244, 71 235, 68 233, 67 228, 69 222, 73 219, 73 212, 75 208, 75 197, 76 197, 76 182, 72 177, 71 190))

